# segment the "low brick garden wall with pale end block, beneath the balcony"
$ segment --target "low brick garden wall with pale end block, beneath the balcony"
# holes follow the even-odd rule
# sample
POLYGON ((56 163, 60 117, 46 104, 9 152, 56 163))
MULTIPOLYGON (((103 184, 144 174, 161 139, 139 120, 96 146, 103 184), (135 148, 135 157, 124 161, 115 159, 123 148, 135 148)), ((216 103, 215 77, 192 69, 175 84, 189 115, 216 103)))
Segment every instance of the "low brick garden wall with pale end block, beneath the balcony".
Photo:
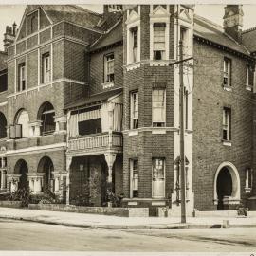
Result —
POLYGON ((77 213, 102 214, 119 217, 148 217, 148 208, 110 208, 110 207, 83 207, 64 204, 29 204, 33 210, 55 210, 77 213))

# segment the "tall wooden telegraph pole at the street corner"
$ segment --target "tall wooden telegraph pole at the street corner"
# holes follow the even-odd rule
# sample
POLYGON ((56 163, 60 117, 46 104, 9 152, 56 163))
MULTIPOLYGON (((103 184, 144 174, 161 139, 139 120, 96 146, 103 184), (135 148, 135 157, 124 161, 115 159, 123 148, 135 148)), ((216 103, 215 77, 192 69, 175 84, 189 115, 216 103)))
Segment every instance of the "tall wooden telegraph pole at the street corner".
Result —
POLYGON ((181 187, 181 223, 186 223, 186 182, 184 154, 184 83, 183 83, 183 42, 179 41, 179 127, 180 127, 180 187, 181 187))

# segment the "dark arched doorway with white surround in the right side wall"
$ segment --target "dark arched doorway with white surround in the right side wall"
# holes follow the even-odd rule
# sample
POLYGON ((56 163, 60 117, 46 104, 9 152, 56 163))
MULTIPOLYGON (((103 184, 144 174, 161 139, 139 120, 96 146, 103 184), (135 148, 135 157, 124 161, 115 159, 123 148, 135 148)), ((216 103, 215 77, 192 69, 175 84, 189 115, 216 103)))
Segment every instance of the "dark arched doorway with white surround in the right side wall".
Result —
POLYGON ((217 210, 225 210, 224 199, 240 202, 240 178, 236 167, 229 162, 222 163, 215 174, 214 202, 217 210))

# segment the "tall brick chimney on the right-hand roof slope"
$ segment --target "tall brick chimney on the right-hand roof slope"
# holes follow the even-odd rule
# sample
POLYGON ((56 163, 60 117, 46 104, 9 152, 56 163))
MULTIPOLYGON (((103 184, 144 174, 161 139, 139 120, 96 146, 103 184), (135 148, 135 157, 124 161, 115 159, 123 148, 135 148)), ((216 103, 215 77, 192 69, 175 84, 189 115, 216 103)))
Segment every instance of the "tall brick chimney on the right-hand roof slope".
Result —
POLYGON ((227 5, 223 17, 224 31, 239 44, 242 43, 242 29, 244 12, 242 5, 227 5))

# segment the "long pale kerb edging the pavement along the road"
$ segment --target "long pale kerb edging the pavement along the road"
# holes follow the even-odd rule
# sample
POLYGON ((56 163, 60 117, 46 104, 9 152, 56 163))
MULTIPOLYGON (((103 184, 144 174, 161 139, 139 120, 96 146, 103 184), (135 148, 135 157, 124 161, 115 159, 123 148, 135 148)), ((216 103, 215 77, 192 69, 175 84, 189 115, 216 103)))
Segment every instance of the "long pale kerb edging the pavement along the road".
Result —
MULTIPOLYGON (((13 219, 13 220, 20 220, 20 221, 28 221, 28 222, 37 222, 42 224, 49 224, 49 225, 63 225, 67 227, 77 227, 77 228, 89 228, 89 229, 216 229, 216 228, 223 228, 221 224, 152 224, 152 225, 109 225, 109 224, 91 224, 91 223, 84 223, 84 224, 73 224, 67 223, 62 221, 51 221, 51 220, 43 220, 38 218, 32 217, 16 217, 16 216, 9 216, 9 215, 2 215, 0 219, 13 219)), ((230 225, 229 228, 256 228, 256 224, 233 224, 230 225)), ((229 229, 223 228, 223 229, 229 229)))

